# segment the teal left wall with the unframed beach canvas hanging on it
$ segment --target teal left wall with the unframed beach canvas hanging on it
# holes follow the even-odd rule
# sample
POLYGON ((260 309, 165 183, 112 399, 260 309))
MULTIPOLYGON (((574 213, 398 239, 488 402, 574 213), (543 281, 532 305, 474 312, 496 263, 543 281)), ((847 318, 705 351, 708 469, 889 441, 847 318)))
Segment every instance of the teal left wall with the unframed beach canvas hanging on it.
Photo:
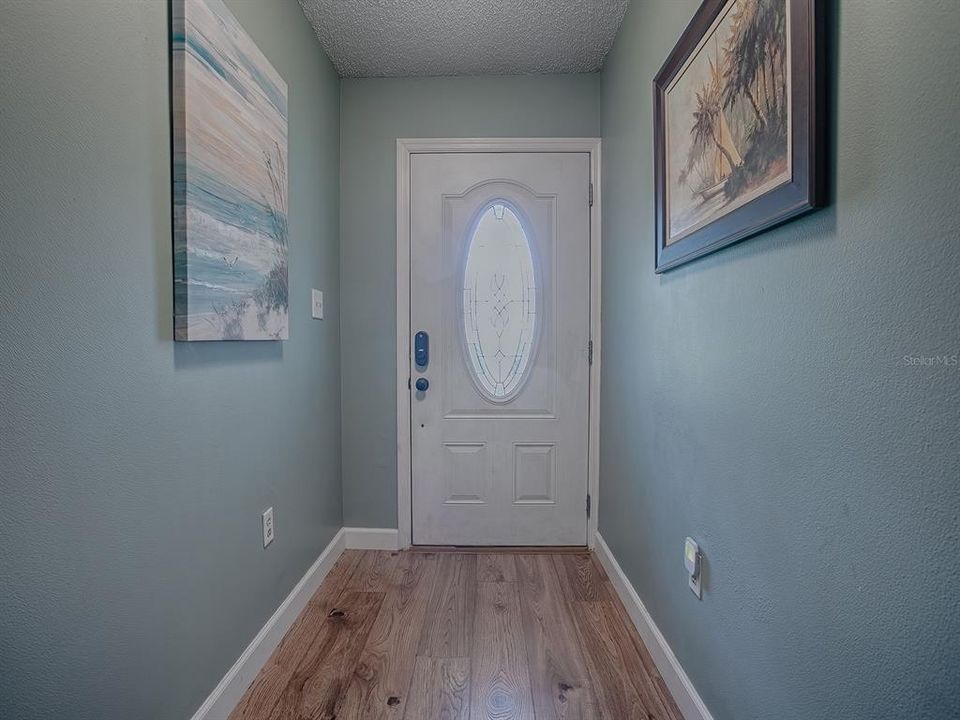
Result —
POLYGON ((341 525, 339 80, 227 4, 289 84, 283 344, 171 340, 167 3, 0 0, 3 718, 190 717, 341 525))

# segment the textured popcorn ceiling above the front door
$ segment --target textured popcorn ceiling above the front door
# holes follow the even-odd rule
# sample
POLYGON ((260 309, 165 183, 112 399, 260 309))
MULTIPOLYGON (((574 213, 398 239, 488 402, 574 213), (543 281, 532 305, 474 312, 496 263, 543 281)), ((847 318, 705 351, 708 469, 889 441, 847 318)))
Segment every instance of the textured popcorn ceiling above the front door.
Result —
POLYGON ((300 0, 344 77, 599 70, 629 0, 300 0))

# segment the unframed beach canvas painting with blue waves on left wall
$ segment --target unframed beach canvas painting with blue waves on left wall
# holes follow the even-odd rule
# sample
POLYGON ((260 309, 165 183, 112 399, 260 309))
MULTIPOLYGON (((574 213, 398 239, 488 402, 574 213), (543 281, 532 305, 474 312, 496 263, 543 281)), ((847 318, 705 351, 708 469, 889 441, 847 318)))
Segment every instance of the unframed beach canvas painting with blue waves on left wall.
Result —
POLYGON ((176 340, 288 337, 287 85, 222 0, 172 0, 176 340))

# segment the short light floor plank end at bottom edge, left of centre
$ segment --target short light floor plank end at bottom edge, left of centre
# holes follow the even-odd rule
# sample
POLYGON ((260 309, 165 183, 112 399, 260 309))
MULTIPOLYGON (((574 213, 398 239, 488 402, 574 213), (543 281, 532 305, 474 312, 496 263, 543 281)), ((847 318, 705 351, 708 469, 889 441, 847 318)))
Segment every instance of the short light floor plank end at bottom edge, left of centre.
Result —
POLYGON ((469 720, 470 660, 418 657, 404 720, 469 720))

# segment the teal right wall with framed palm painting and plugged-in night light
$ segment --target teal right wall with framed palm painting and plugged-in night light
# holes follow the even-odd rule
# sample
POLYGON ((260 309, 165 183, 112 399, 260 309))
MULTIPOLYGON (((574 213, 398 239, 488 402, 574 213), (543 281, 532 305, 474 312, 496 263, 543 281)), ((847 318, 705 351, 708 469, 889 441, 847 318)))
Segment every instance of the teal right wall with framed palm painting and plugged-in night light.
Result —
POLYGON ((837 3, 833 204, 656 276, 698 5, 633 3, 602 77, 600 531, 716 720, 960 717, 960 368, 911 360, 960 354, 960 4, 837 3))

